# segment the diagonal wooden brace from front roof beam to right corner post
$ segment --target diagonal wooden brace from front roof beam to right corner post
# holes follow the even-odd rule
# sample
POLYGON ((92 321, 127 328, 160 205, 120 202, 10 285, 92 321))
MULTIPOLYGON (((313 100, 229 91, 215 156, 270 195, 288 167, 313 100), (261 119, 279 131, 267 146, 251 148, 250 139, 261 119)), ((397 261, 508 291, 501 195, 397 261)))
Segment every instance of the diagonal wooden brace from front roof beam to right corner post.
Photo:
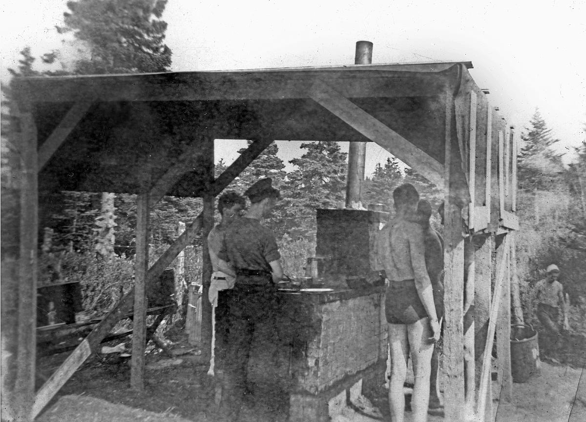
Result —
POLYGON ((318 104, 338 116, 367 139, 389 151, 438 187, 444 187, 444 166, 383 122, 368 114, 326 84, 316 83, 310 93, 318 104))

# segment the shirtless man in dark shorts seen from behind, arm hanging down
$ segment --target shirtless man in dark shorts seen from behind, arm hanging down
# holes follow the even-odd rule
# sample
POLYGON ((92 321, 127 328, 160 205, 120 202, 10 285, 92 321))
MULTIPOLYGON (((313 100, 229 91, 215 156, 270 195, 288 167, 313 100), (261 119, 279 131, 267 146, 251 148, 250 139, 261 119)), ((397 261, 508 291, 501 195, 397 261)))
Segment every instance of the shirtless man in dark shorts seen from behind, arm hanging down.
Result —
POLYGON ((393 192, 396 216, 380 232, 379 259, 389 279, 385 312, 389 322, 391 420, 403 422, 407 360, 411 352, 415 385, 411 399, 414 422, 427 420, 430 399, 430 361, 440 338, 430 277, 425 266, 424 231, 410 221, 419 194, 411 184, 393 192))

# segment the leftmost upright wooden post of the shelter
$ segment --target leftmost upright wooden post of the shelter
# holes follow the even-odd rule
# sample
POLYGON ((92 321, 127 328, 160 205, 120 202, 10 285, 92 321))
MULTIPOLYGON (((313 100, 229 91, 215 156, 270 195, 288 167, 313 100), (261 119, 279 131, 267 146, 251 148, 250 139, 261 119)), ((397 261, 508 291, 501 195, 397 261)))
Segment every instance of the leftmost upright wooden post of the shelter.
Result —
POLYGON ((24 421, 32 420, 35 394, 36 289, 38 243, 37 131, 30 104, 19 113, 21 145, 18 346, 13 399, 24 421))

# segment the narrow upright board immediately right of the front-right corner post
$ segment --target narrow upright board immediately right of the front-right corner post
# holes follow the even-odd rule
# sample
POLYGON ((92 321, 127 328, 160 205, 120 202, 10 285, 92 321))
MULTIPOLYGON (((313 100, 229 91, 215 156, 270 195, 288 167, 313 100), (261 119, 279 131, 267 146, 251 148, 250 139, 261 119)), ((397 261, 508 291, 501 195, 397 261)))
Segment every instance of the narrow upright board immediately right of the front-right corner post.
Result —
POLYGON ((464 393, 466 400, 466 419, 474 414, 476 401, 475 359, 474 359, 474 296, 475 296, 475 245, 473 235, 464 244, 464 393))

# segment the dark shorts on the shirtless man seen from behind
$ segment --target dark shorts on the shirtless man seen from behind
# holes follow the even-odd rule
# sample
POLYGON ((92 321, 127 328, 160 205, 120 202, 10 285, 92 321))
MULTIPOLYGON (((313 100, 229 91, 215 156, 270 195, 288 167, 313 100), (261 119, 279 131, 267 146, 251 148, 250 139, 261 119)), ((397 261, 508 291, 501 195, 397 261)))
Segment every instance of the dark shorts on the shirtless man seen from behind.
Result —
POLYGON ((419 299, 415 280, 390 282, 384 302, 389 324, 413 324, 427 317, 427 311, 419 299))

